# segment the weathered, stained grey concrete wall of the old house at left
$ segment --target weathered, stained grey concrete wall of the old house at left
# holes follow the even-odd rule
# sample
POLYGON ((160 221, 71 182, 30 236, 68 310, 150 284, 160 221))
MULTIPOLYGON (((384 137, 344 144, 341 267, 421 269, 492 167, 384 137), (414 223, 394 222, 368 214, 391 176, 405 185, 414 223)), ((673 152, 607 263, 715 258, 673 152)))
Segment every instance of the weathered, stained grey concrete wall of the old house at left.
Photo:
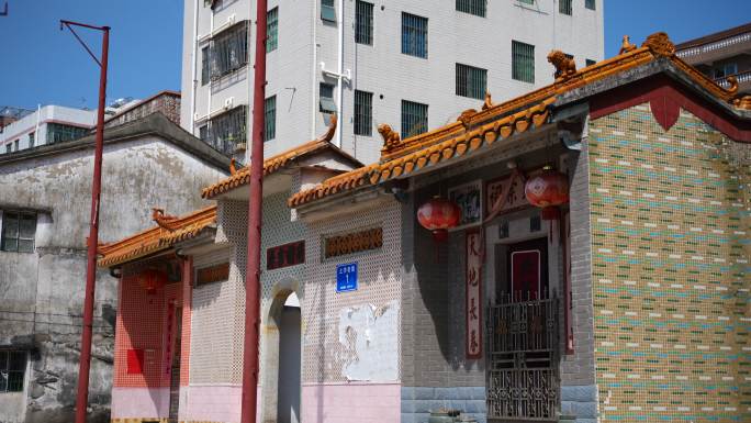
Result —
MULTIPOLYGON (((31 349, 25 420, 72 420, 80 350, 92 149, 0 162, 0 209, 38 212, 35 252, 0 252, 0 347, 31 349)), ((150 207, 205 207, 200 189, 224 172, 157 136, 105 145, 100 242, 152 226, 150 207)), ((91 421, 109 418, 116 280, 98 272, 91 421)), ((0 396, 0 410, 9 410, 0 396)))

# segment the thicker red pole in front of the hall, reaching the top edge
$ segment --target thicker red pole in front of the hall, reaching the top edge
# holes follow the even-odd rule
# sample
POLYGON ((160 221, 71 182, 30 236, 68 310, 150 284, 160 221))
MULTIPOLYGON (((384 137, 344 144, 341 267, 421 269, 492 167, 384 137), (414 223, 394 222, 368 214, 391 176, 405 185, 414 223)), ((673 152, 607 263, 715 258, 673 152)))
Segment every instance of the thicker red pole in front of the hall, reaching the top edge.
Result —
POLYGON ((256 422, 260 323, 260 234, 266 100, 266 0, 256 4, 256 69, 253 90, 253 146, 248 200, 248 261, 245 269, 245 342, 240 423, 256 422))

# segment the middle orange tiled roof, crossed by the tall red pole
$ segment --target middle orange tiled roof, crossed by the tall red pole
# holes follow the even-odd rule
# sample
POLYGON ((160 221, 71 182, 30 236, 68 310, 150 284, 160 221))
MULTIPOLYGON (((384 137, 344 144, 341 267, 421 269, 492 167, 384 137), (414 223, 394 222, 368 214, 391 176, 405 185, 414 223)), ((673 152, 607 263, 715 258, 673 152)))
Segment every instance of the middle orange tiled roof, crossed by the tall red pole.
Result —
MULTIPOLYGON (((333 147, 329 143, 336 131, 336 115, 332 116, 332 123, 329 124, 325 134, 321 135, 318 138, 302 144, 295 148, 289 149, 287 152, 280 153, 273 157, 264 160, 264 176, 271 175, 277 170, 287 167, 289 164, 299 159, 307 154, 315 153, 323 148, 333 147)), ((354 160, 354 159, 352 159, 354 160)), ((250 166, 246 166, 234 175, 220 180, 218 182, 204 188, 201 191, 201 197, 205 199, 214 198, 218 194, 225 193, 237 187, 247 185, 250 182, 250 166)))

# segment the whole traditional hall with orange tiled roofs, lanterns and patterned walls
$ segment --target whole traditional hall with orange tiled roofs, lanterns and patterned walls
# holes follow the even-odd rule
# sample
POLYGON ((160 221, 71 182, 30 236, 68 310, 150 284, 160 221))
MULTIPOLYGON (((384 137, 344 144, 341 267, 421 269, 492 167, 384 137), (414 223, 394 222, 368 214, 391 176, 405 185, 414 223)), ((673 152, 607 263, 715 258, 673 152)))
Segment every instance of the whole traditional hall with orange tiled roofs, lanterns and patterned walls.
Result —
MULTIPOLYGON (((260 422, 751 420, 751 97, 664 33, 363 166, 265 162, 260 422)), ((249 169, 103 247, 113 422, 237 422, 249 169)))

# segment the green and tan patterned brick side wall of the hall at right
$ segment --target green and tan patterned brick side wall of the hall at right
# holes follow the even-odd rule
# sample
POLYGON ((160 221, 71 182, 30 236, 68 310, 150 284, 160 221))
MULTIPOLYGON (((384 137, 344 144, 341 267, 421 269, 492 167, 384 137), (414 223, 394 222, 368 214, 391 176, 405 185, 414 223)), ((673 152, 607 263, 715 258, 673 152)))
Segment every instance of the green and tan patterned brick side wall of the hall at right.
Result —
POLYGON ((750 152, 685 111, 592 122, 602 422, 751 422, 750 152))

